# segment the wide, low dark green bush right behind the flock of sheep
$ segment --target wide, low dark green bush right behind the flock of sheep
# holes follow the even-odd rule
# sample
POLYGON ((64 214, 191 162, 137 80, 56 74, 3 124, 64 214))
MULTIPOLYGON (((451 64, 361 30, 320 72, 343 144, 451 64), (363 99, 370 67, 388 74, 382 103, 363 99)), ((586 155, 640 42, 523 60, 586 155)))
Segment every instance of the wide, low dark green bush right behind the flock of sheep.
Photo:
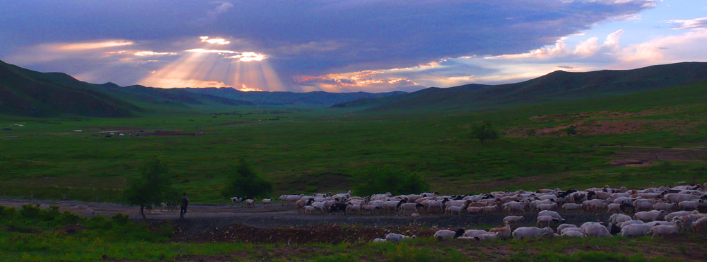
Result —
POLYGON ((368 169, 355 171, 351 182, 356 195, 373 195, 390 192, 393 195, 422 193, 429 185, 422 176, 409 173, 402 169, 371 166, 368 169))

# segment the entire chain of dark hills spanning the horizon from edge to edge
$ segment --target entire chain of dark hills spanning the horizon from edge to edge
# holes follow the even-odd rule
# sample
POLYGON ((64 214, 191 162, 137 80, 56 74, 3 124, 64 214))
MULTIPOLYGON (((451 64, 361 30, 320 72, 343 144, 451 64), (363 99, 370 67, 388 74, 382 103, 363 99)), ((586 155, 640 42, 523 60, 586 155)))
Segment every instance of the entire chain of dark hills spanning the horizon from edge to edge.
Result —
POLYGON ((230 110, 237 106, 332 106, 372 113, 498 110, 620 96, 704 80, 707 63, 684 62, 633 70, 556 71, 515 84, 432 87, 412 93, 243 92, 230 88, 90 84, 67 74, 40 73, 0 61, 0 114, 132 117, 194 108, 230 110))

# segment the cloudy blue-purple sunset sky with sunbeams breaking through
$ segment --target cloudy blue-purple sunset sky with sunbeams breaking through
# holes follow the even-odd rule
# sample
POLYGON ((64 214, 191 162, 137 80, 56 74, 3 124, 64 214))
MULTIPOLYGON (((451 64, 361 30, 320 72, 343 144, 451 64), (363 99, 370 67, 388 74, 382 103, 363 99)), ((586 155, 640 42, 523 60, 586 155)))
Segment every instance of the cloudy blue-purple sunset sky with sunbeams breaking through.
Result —
POLYGON ((704 0, 0 0, 0 60, 121 86, 387 92, 707 61, 704 0))

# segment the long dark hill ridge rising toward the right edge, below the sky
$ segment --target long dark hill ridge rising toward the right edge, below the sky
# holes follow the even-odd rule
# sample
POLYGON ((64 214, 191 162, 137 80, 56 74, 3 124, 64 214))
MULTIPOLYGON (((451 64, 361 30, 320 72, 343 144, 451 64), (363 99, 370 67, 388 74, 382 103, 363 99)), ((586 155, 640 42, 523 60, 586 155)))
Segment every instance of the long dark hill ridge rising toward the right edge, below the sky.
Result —
POLYGON ((632 70, 556 71, 514 84, 428 88, 384 98, 361 98, 336 108, 368 112, 496 110, 539 103, 580 101, 707 80, 707 63, 683 62, 632 70))

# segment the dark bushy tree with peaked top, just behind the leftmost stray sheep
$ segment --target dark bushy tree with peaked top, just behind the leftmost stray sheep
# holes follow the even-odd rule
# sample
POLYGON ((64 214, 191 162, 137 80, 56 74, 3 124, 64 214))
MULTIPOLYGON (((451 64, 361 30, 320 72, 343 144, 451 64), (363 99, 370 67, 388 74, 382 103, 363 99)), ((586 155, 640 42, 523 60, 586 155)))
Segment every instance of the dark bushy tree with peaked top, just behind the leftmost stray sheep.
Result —
POLYGON ((228 173, 226 188, 221 191, 224 198, 233 196, 258 198, 272 193, 272 183, 258 176, 244 159, 240 159, 238 166, 233 167, 228 173))

